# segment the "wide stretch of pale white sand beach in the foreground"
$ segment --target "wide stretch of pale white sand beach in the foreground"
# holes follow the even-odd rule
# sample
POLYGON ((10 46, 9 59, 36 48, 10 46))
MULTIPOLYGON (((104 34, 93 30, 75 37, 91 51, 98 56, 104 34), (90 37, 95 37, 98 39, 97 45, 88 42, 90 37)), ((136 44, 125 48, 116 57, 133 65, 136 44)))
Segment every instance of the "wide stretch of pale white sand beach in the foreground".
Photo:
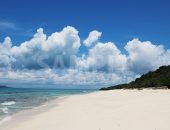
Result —
POLYGON ((19 112, 0 130, 170 130, 170 90, 66 96, 19 112))

